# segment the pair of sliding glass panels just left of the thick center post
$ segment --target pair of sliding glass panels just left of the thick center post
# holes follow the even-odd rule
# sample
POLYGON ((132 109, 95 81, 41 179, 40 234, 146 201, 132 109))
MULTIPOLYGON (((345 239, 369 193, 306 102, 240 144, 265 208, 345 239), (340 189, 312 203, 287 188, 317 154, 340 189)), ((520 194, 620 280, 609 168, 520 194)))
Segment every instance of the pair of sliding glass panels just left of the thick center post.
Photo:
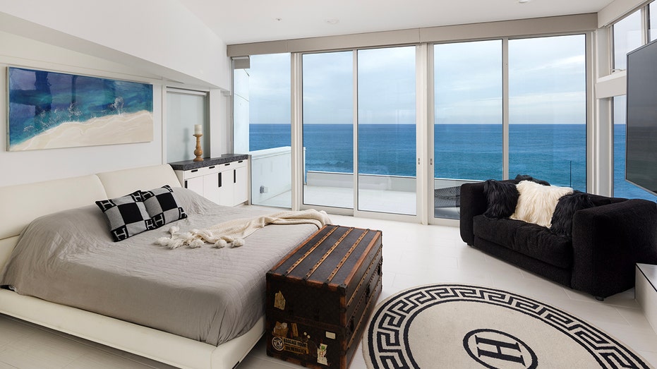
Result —
POLYGON ((303 55, 304 205, 416 214, 415 53, 303 55))

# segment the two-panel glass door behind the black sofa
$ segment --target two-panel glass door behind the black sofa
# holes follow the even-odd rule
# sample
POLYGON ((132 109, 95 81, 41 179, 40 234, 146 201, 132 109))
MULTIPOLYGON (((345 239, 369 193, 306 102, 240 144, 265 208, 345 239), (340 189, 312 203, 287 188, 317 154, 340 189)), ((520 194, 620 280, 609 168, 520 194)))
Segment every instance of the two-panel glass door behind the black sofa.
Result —
POLYGON ((434 218, 459 218, 468 181, 586 190, 586 35, 435 44, 433 61, 434 218))

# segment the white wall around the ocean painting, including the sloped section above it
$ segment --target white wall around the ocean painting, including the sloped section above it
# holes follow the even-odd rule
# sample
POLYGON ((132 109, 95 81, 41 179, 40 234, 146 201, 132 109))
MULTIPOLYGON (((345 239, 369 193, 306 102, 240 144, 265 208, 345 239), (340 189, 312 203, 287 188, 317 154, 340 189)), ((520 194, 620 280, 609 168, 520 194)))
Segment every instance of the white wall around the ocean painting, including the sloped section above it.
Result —
MULTIPOLYGON (((0 186, 168 162, 164 87, 210 93, 210 150, 231 149, 226 44, 176 0, 0 4, 0 186), (6 66, 153 83, 151 143, 6 151, 6 66)), ((204 150, 205 151, 205 150, 204 150)))

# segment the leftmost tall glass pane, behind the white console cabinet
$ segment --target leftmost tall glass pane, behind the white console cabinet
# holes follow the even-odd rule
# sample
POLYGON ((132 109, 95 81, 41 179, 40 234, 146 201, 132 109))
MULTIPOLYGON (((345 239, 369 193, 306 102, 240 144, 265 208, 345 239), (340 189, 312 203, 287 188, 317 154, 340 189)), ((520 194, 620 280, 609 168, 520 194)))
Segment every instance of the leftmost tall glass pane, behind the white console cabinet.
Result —
POLYGON ((251 203, 292 206, 290 54, 251 56, 233 75, 234 152, 251 155, 251 203))

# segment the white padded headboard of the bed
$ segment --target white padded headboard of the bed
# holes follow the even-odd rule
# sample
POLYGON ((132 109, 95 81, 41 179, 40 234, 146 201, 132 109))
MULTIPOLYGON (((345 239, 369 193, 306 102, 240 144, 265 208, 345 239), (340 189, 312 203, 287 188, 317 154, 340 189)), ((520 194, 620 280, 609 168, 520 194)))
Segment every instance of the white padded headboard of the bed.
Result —
POLYGON ((0 270, 33 219, 166 184, 180 187, 169 164, 0 187, 0 270))

